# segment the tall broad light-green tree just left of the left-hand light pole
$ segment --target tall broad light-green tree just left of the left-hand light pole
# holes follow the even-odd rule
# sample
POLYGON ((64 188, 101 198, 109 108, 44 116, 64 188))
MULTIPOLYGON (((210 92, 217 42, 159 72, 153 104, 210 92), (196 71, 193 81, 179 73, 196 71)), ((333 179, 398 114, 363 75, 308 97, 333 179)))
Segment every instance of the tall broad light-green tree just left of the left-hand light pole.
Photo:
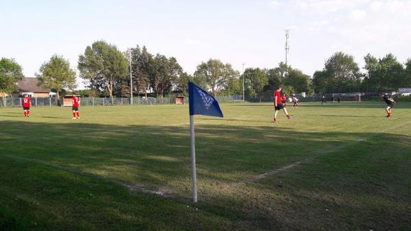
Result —
POLYGON ((93 42, 79 56, 80 77, 90 82, 91 88, 108 91, 112 97, 123 78, 127 78, 129 64, 116 46, 105 41, 93 42))

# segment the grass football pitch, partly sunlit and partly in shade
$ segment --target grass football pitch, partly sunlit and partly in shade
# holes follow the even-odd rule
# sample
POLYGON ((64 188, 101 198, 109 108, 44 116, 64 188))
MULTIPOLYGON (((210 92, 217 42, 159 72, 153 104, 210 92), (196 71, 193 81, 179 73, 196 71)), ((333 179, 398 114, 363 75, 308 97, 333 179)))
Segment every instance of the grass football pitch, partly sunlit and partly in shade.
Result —
POLYGON ((0 230, 411 230, 411 104, 0 108, 0 230))

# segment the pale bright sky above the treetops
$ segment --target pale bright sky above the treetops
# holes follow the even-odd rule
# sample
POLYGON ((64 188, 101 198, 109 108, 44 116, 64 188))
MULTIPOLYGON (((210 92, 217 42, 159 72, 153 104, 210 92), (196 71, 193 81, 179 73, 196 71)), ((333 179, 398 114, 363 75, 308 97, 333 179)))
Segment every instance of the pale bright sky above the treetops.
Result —
POLYGON ((27 77, 54 53, 76 67, 95 40, 121 51, 146 45, 188 73, 210 58, 270 68, 284 62, 285 29, 289 63, 309 75, 336 51, 360 66, 366 53, 411 57, 411 0, 0 0, 0 23, 0 57, 27 77))

